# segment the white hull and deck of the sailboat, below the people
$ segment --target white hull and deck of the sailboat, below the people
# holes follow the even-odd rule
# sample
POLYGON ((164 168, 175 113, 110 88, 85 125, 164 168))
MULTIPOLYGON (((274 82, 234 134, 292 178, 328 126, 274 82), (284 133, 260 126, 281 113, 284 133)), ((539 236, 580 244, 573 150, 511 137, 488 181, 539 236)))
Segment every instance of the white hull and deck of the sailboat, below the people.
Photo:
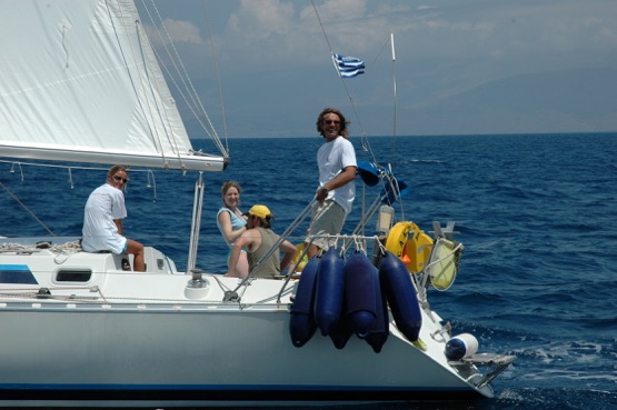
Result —
POLYGON ((484 378, 475 366, 459 374, 448 364, 435 312, 422 311, 426 351, 392 322, 379 353, 355 336, 339 350, 319 330, 296 348, 289 309, 297 282, 280 302, 283 281, 267 279, 240 288, 240 302, 223 302, 237 279, 205 274, 207 286, 192 289, 190 276, 120 271, 109 253, 64 257, 58 264, 50 250, 0 254, 0 270, 28 264, 38 282, 0 276, 0 403, 293 406, 492 396, 490 387, 474 386, 484 378), (106 268, 81 283, 56 281, 87 263, 106 268), (41 288, 51 297, 37 297, 41 288))

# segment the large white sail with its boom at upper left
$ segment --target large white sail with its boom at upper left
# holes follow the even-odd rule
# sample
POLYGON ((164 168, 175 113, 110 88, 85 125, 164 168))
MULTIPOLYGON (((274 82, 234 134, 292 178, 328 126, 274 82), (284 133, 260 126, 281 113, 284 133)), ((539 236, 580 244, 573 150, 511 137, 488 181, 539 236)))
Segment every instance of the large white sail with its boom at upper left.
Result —
POLYGON ((0 156, 220 171, 195 153, 135 4, 3 1, 0 156))

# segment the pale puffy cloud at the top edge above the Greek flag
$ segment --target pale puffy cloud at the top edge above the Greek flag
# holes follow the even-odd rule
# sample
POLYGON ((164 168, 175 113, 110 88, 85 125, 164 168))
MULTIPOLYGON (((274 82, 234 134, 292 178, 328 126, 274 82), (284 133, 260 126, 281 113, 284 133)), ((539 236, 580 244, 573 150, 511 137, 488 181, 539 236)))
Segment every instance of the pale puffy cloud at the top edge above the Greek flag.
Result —
MULTIPOLYGON (((286 0, 242 0, 227 20, 219 39, 225 44, 221 49, 250 59, 252 67, 280 62, 290 69, 329 61, 329 46, 335 52, 362 53, 382 44, 388 31, 382 29, 387 17, 374 18, 368 3, 316 1, 317 14, 312 3, 298 7, 300 3, 286 0)), ((379 7, 374 3, 374 9, 379 7)))

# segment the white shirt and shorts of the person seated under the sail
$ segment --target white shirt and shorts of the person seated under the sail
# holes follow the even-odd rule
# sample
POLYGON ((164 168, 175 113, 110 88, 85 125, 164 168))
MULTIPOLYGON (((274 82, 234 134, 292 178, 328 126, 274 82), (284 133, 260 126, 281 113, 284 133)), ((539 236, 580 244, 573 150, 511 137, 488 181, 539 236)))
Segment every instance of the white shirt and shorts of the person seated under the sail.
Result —
POLYGON ((127 238, 118 233, 115 219, 127 218, 125 194, 121 190, 105 183, 88 197, 83 211, 81 247, 87 252, 109 250, 113 253, 126 251, 127 238))

